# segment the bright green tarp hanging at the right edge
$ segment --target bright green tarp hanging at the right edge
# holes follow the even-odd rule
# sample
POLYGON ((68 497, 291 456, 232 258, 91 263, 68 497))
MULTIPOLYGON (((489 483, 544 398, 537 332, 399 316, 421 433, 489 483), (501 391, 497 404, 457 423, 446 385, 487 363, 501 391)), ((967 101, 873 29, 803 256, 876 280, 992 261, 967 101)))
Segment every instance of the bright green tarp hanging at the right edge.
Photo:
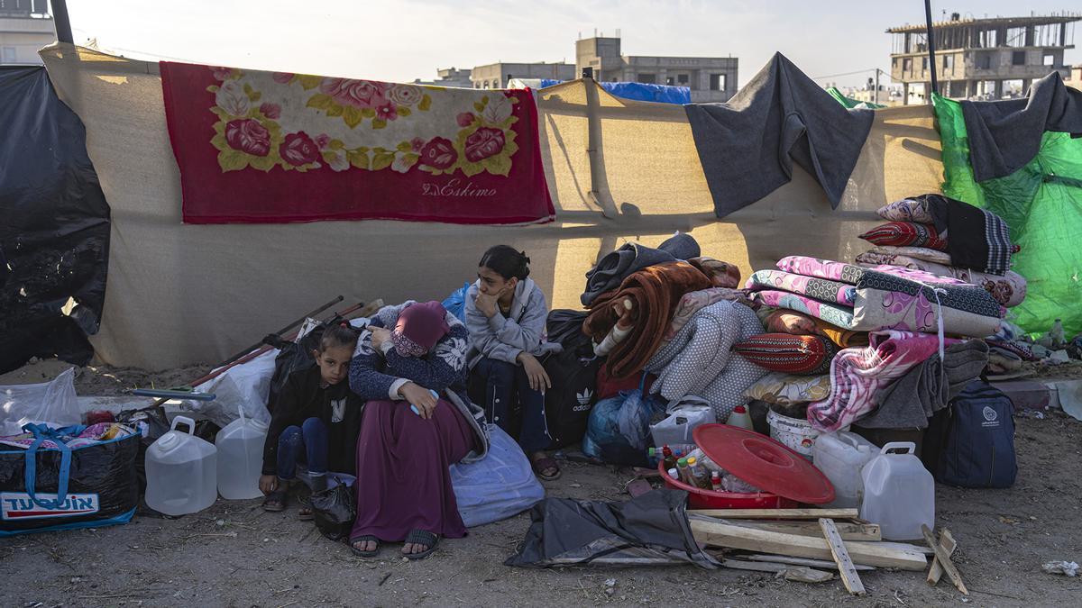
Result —
POLYGON ((944 194, 987 209, 1011 226, 1021 247, 1013 269, 1026 277, 1026 301, 1008 316, 1029 333, 1063 319, 1070 338, 1082 331, 1082 138, 1046 132, 1022 169, 977 183, 962 105, 933 95, 942 140, 944 194))

